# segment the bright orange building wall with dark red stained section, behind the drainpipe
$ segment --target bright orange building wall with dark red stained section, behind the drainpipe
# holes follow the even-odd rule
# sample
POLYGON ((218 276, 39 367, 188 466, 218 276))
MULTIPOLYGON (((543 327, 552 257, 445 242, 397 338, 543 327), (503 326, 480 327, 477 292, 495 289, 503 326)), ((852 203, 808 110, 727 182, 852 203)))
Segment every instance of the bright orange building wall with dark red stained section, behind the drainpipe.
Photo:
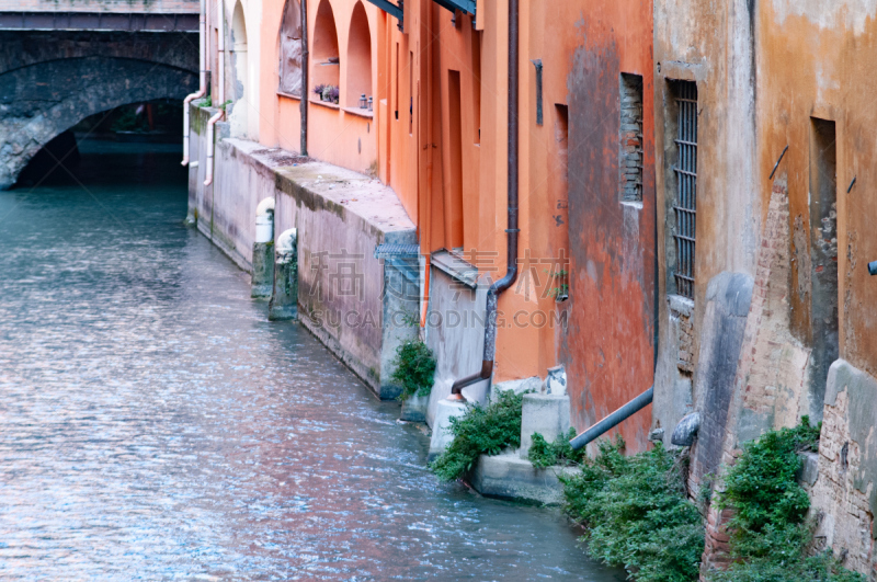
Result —
MULTIPOLYGON (((452 23, 451 12, 428 0, 407 2, 405 10, 405 33, 395 19, 383 24, 380 178, 415 218, 424 253, 462 248, 469 262, 496 278, 505 271, 508 8, 481 4, 483 31, 459 13, 452 23), (412 59, 406 58, 409 53, 412 59), (411 123, 409 87, 414 88, 411 123)), ((493 381, 545 376, 563 363, 573 424, 581 430, 653 380, 651 3, 524 1, 520 23, 521 274, 500 298, 493 381), (544 64, 542 126, 535 123, 532 59, 544 64), (620 72, 643 77, 640 208, 619 202, 620 72), (569 110, 567 132, 556 104, 569 110), (571 272, 571 299, 557 303, 546 290, 559 283, 546 270, 563 267, 571 272), (565 312, 568 331, 551 324, 565 312)), ((631 449, 646 446, 649 424, 650 415, 642 413, 622 425, 631 449)))

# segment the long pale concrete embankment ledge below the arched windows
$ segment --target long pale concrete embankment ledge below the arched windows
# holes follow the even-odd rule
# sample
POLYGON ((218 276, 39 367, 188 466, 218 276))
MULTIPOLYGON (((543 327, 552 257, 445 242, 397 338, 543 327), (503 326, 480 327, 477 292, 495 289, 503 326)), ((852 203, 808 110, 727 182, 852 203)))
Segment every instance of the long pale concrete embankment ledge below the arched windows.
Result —
POLYGON ((191 109, 190 151, 198 164, 190 166, 189 216, 214 244, 253 273, 262 295, 274 282, 272 277, 269 285, 259 275, 267 274, 274 262, 266 248, 258 249, 264 256, 253 259, 257 207, 273 197, 274 236, 289 229, 297 233, 297 310, 285 306, 274 317, 297 313, 378 397, 396 398, 401 388, 391 380, 392 356, 400 342, 418 334, 405 316, 420 312, 417 269, 406 277, 408 273, 375 254, 384 243, 417 244, 414 224, 396 193, 367 175, 225 137, 221 130, 214 183, 205 187, 205 128, 213 111, 191 109), (264 264, 254 264, 260 259, 264 264), (399 285, 408 278, 413 286, 399 285))

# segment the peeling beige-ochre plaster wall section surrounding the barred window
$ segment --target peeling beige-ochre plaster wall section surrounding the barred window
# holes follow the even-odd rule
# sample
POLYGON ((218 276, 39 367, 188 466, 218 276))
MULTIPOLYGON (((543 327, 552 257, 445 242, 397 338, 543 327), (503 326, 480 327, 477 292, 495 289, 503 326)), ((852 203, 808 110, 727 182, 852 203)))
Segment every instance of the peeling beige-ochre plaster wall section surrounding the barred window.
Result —
MULTIPOLYGON (((727 271, 754 275, 762 201, 755 196, 755 12, 744 0, 727 4, 669 0, 654 7, 654 134, 659 277, 659 354, 654 380, 653 427, 669 436, 691 407, 686 386, 710 376, 698 362, 705 338, 707 282, 727 271), (676 146, 674 80, 697 83, 697 226, 694 300, 686 310, 688 341, 671 297, 675 284, 672 164, 676 146), (692 378, 679 366, 681 353, 695 354, 692 378)), ((714 320, 718 321, 718 320, 714 320)), ((726 370, 727 372, 727 370, 726 370)), ((693 402, 698 406, 696 399, 693 402)))

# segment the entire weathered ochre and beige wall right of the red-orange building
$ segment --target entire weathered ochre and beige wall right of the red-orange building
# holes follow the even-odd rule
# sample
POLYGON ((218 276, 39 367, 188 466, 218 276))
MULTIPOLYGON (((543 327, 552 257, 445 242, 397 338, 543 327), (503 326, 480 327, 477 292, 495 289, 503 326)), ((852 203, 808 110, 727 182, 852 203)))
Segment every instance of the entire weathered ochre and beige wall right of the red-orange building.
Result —
MULTIPOLYGON (((873 164, 877 2, 669 0, 656 7, 654 14, 656 67, 661 68, 656 80, 661 297, 672 292, 668 256, 673 251, 673 192, 667 186, 672 182, 674 136, 669 113, 672 94, 665 80, 696 81, 698 88, 696 386, 714 372, 713 364, 703 361, 704 342, 714 333, 705 317, 704 282, 722 270, 754 277, 724 443, 713 448, 708 463, 732 464, 742 442, 770 429, 794 425, 804 414, 813 421, 824 414, 825 450, 820 450, 815 507, 825 507, 821 527, 828 544, 838 551, 848 549, 848 564, 870 573, 873 543, 863 532, 872 528, 873 500, 866 509, 863 499, 873 494, 873 486, 865 481, 877 471, 869 460, 877 395, 863 387, 873 386, 877 370, 877 316, 872 308, 877 285, 865 267, 877 259, 870 224, 877 201, 868 195, 877 178, 873 164), (819 190, 819 172, 816 178, 812 172, 819 163, 834 169, 831 161, 820 158, 824 148, 812 146, 825 127, 813 119, 833 122, 834 207, 827 207, 833 203, 831 192, 822 203, 824 189, 819 190), (771 175, 775 166, 776 174, 771 175), (835 298, 825 297, 824 282, 816 278, 835 267, 838 289, 828 293, 838 295, 843 360, 831 367, 825 388, 825 364, 836 355, 821 341, 824 330, 833 329, 832 312, 824 308, 835 298), (855 366, 856 379, 841 383, 844 366, 855 366), (848 404, 835 396, 843 391, 839 383, 858 387, 855 395, 851 389, 848 404), (868 425, 859 418, 868 418, 868 425), (846 463, 855 478, 838 472, 838 459, 843 456, 839 450, 847 437, 846 463)), ((687 409, 677 366, 685 338, 673 301, 659 305, 654 423, 671 429, 687 409)), ((699 398, 695 390, 694 408, 701 406, 699 398)), ((695 470, 695 481, 696 476, 695 470)), ((710 547, 719 551, 722 520, 715 511, 710 515, 715 522, 710 522, 710 535, 718 536, 710 547)), ((717 559, 710 547, 705 563, 717 559)))

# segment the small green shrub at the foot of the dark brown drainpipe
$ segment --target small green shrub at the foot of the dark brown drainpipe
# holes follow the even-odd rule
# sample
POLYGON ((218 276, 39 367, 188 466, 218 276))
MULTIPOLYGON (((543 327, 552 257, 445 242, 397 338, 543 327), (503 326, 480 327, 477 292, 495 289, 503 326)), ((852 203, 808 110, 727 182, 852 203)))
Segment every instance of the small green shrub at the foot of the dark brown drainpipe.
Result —
POLYGON ((506 446, 521 446, 521 411, 524 396, 513 390, 500 392, 487 407, 472 406, 463 416, 452 418, 454 435, 447 449, 430 469, 445 481, 459 479, 471 469, 479 455, 499 455, 506 446))

